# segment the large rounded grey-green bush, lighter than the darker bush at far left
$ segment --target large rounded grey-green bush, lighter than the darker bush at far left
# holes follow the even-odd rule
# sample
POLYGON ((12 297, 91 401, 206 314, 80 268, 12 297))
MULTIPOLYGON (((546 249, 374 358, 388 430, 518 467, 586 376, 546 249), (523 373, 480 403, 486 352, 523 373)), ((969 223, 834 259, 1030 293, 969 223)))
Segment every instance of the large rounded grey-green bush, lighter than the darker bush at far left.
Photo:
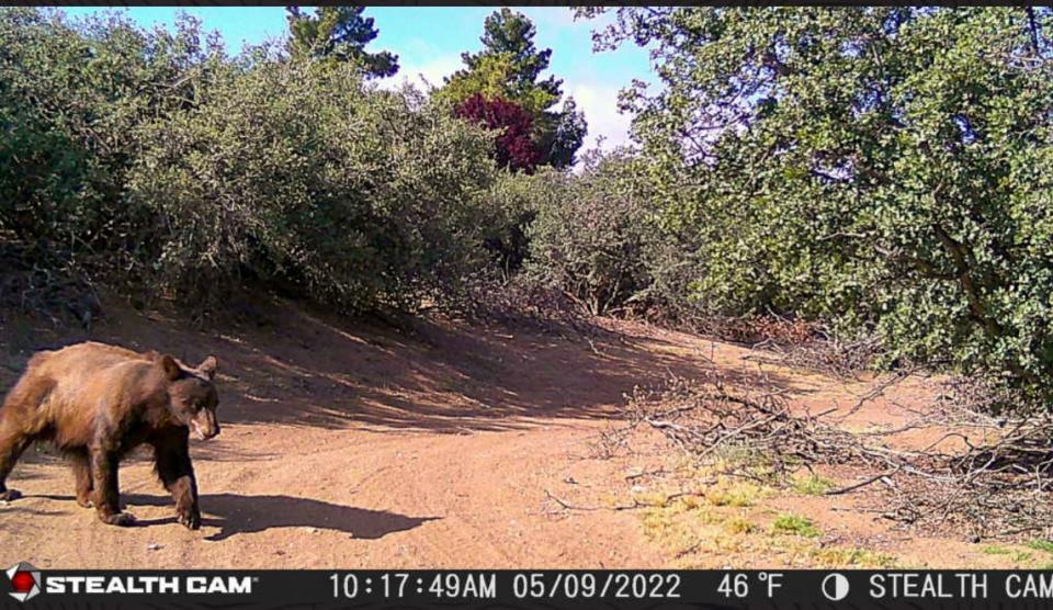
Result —
POLYGON ((222 296, 247 276, 350 310, 411 308, 475 262, 488 138, 355 74, 265 64, 141 132, 128 195, 161 219, 167 285, 222 296))

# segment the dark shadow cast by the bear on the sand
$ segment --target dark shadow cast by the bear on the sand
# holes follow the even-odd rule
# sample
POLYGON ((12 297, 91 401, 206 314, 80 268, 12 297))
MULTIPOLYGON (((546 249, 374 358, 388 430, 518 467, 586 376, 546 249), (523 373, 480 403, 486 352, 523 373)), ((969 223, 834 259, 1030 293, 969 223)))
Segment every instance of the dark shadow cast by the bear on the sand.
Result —
MULTIPOLYGON (((168 496, 122 495, 122 504, 135 515, 136 506, 169 506, 168 496)), ((353 538, 375 540, 389 533, 411 530, 438 517, 408 517, 397 512, 341 506, 310 498, 293 496, 242 496, 238 494, 206 494, 201 496, 202 527, 219 531, 205 540, 220 541, 239 533, 254 533, 272 528, 317 528, 351 534, 353 538)), ((176 523, 176 517, 139 519, 139 526, 176 523)))

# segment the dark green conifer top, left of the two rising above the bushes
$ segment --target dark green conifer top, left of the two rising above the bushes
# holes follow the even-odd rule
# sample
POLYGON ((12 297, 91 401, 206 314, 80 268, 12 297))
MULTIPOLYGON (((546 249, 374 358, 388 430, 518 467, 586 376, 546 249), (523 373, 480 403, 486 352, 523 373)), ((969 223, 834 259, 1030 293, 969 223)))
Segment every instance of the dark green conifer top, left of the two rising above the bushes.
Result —
POLYGON ((367 77, 394 76, 398 56, 386 50, 365 50, 377 31, 373 18, 362 16, 365 7, 317 7, 314 14, 308 14, 299 7, 287 7, 290 54, 350 61, 367 77))

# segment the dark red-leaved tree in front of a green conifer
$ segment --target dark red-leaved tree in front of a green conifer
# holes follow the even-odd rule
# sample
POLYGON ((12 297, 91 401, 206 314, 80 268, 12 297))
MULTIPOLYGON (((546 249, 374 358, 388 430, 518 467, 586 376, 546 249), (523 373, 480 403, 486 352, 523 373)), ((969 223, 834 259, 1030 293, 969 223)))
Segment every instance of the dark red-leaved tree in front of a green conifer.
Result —
POLYGON ((502 167, 531 172, 541 162, 541 152, 531 139, 534 120, 516 103, 501 98, 487 100, 476 93, 457 105, 456 115, 486 126, 500 129, 497 138, 497 162, 502 167))

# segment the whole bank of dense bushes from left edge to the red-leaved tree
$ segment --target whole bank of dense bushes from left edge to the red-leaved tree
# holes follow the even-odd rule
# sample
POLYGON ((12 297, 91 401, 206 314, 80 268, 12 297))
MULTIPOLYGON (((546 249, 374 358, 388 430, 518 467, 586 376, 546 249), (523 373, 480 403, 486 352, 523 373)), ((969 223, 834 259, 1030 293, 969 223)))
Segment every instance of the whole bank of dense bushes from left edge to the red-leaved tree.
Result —
POLYGON ((246 282, 414 308, 487 262, 492 136, 411 89, 227 58, 190 20, 11 10, 0 48, 0 227, 111 284, 197 309, 246 282))

